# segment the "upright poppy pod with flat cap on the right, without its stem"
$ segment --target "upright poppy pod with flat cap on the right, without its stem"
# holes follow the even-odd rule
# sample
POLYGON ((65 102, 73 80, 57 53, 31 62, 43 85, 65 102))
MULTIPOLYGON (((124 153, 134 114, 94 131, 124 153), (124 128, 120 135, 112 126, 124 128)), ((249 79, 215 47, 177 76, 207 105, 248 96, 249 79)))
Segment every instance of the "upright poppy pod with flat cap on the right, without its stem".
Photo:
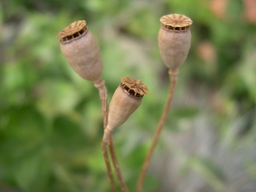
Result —
POLYGON ((158 46, 161 58, 169 69, 181 66, 190 48, 192 20, 181 14, 161 16, 158 46))

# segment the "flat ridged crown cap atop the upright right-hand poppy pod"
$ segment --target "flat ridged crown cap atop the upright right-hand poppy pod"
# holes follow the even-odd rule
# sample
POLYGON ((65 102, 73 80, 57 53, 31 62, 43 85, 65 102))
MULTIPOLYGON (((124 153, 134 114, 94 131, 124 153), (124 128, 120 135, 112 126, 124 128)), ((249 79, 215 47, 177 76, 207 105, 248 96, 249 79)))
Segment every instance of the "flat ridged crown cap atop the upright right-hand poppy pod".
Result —
POLYGON ((192 20, 181 14, 161 16, 160 22, 164 28, 172 30, 187 30, 192 25, 192 20))

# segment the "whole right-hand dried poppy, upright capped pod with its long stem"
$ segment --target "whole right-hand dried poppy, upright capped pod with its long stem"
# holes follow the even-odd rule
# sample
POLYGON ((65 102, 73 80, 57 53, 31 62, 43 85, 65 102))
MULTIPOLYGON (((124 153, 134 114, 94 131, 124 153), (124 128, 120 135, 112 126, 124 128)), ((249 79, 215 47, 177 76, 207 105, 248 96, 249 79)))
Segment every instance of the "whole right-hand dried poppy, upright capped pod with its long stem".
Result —
POLYGON ((137 182, 137 192, 142 191, 149 162, 153 156, 155 146, 160 137, 163 125, 166 122, 167 113, 169 112, 173 100, 174 87, 176 85, 177 75, 179 74, 178 67, 186 60, 191 42, 190 25, 192 24, 192 20, 190 18, 181 14, 170 14, 161 16, 160 21, 161 29, 158 33, 158 46, 161 58, 169 69, 168 74, 171 84, 167 95, 166 105, 156 130, 154 131, 152 144, 150 145, 147 157, 141 168, 141 173, 137 182))

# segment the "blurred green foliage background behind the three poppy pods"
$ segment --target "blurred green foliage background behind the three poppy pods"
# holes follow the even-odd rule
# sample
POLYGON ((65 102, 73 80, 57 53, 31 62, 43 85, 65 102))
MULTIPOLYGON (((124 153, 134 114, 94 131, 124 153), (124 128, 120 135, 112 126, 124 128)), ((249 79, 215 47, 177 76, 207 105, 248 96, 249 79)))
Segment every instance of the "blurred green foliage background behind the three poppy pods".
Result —
POLYGON ((72 71, 56 39, 81 19, 102 51, 108 101, 121 76, 150 92, 113 136, 135 191, 167 97, 157 33, 170 13, 194 21, 192 46, 144 191, 256 191, 254 2, 2 0, 0 191, 110 191, 98 92, 72 71))

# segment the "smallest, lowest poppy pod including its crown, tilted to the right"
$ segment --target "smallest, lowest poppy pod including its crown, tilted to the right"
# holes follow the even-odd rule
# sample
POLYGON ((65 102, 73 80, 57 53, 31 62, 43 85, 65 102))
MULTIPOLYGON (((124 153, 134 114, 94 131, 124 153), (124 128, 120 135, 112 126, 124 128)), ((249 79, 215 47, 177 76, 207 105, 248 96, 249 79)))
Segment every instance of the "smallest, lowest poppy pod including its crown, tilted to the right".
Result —
POLYGON ((107 129, 114 131, 115 127, 124 123, 141 105, 145 94, 148 94, 148 87, 141 80, 121 77, 121 84, 109 104, 107 129))

